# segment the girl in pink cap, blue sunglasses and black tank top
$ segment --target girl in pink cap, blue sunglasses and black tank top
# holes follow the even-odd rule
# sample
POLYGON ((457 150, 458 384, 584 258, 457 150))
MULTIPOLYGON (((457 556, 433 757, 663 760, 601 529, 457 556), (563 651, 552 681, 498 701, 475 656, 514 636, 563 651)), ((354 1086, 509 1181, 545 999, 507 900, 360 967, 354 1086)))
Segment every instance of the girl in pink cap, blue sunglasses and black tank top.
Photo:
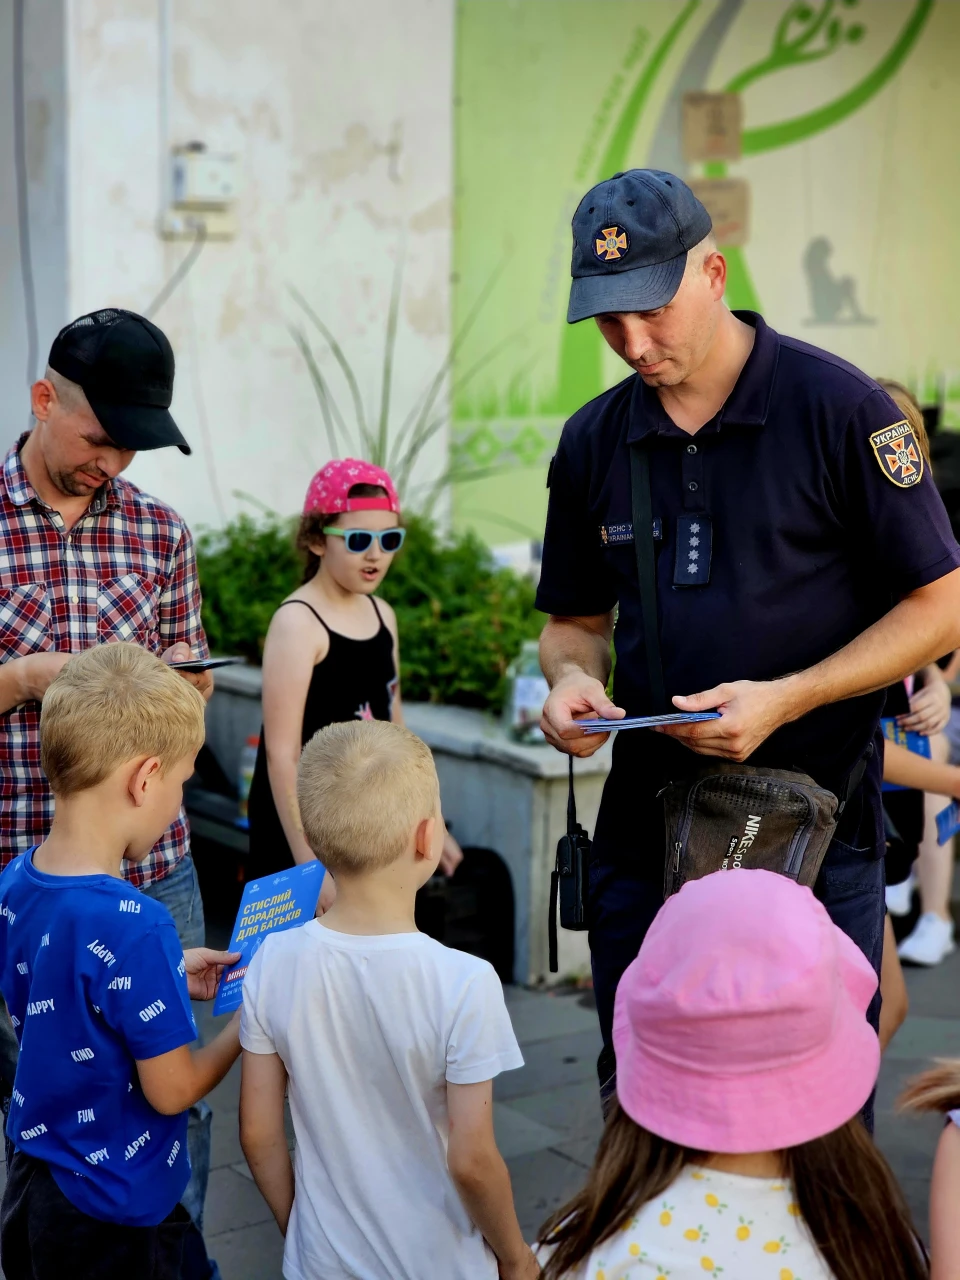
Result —
MULTIPOLYGON (((403 545, 389 475, 334 458, 310 481, 297 547, 303 584, 274 613, 264 645, 264 728, 250 788, 250 877, 310 861, 297 806, 303 746, 335 721, 402 723, 397 616, 375 596, 403 545)), ((462 854, 448 836, 448 873, 462 854)), ((320 908, 335 895, 324 877, 320 908)))

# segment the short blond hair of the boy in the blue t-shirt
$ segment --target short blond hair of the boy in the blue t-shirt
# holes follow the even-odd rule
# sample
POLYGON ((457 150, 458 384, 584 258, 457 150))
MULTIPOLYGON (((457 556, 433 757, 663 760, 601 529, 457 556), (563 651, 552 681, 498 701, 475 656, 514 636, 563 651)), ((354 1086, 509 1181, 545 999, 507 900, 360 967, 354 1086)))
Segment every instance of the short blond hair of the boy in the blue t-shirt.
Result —
POLYGON ((54 795, 97 786, 124 760, 164 765, 204 745, 204 699, 165 662, 136 644, 74 654, 44 696, 40 763, 54 795))

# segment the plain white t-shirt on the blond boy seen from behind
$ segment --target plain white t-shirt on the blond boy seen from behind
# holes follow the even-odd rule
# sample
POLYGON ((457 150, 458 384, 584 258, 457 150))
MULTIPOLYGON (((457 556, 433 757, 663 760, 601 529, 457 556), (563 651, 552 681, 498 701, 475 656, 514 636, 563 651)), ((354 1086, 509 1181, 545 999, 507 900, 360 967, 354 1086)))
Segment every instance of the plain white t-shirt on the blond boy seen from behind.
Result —
POLYGON ((447 1170, 447 1082, 524 1065, 485 960, 424 933, 311 920, 251 961, 241 1042, 279 1053, 289 1075, 288 1280, 497 1280, 447 1170))

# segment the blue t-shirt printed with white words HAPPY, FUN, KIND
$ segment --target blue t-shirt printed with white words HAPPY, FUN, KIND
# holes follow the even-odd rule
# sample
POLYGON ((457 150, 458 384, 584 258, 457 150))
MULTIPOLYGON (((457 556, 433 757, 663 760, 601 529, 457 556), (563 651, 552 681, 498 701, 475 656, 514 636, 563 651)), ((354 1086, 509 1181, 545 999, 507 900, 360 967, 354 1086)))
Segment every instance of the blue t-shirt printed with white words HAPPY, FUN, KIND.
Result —
POLYGON ((20 1056, 6 1121, 84 1213, 152 1226, 189 1179, 187 1116, 143 1097, 136 1060, 197 1036, 165 906, 111 876, 0 876, 0 991, 20 1056))

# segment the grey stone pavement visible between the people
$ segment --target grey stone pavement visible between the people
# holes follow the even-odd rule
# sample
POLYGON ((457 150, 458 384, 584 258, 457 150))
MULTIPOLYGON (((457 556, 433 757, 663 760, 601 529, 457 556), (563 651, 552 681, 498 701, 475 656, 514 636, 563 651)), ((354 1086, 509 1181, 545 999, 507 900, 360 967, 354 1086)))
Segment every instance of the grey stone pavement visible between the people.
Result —
MULTIPOLYGON (((212 931, 211 931, 212 932, 212 931)), ((219 938, 211 938, 219 942, 219 938)), ((960 954, 908 972, 911 1009, 887 1052, 877 1097, 877 1142, 927 1234, 927 1194, 941 1123, 895 1112, 904 1080, 931 1057, 960 1056, 960 954)), ((494 1124, 509 1166, 520 1222, 532 1239, 582 1183, 600 1134, 595 1061, 600 1038, 589 992, 507 988, 525 1066, 497 1080, 494 1124)), ((207 1006, 209 1007, 209 1006, 207 1006)), ((205 1033, 214 1019, 204 1019, 205 1033)), ((223 1280, 280 1280, 283 1242, 253 1185, 237 1134, 239 1066, 214 1091, 206 1238, 223 1280)))

